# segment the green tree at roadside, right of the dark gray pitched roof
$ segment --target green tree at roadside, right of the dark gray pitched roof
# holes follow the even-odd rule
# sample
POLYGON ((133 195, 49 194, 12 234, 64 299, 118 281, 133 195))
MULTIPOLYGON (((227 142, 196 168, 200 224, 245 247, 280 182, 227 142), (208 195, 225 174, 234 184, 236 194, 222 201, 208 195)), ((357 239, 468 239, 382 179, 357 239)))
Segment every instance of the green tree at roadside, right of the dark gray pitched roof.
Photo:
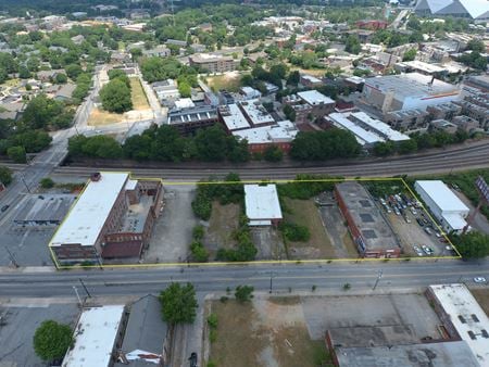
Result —
POLYGON ((163 320, 170 324, 193 322, 199 306, 191 283, 171 283, 160 293, 163 320))

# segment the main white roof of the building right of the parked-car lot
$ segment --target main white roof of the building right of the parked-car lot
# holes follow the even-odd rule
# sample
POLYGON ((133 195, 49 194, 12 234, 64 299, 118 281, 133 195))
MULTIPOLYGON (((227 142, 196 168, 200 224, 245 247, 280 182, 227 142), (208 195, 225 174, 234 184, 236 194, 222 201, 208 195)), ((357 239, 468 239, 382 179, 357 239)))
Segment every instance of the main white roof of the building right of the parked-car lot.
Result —
MULTIPOLYGON (((441 212, 466 212, 468 207, 441 180, 417 180, 423 191, 438 205, 441 212)), ((416 190, 417 191, 417 190, 416 190)))

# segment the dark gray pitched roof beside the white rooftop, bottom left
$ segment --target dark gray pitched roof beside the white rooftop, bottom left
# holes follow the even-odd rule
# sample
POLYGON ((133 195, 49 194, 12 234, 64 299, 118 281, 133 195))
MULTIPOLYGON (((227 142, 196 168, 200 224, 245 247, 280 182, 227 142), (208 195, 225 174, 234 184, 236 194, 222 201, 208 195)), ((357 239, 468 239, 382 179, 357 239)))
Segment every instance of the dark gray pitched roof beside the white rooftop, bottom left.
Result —
MULTIPOLYGON (((136 350, 162 354, 168 327, 162 320, 161 303, 155 295, 148 294, 130 306, 122 351, 129 353, 136 350)), ((116 363, 115 367, 127 366, 116 363)), ((130 360, 129 366, 155 366, 142 359, 130 360)))

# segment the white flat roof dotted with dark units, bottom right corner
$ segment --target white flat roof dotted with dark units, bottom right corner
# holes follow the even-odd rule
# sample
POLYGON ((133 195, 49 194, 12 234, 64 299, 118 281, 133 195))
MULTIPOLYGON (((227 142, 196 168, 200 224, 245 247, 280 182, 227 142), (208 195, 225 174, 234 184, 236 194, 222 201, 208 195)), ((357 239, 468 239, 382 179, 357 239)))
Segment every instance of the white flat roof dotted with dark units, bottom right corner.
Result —
POLYGON ((467 287, 461 283, 435 284, 429 286, 429 289, 480 366, 489 366, 489 318, 467 287))

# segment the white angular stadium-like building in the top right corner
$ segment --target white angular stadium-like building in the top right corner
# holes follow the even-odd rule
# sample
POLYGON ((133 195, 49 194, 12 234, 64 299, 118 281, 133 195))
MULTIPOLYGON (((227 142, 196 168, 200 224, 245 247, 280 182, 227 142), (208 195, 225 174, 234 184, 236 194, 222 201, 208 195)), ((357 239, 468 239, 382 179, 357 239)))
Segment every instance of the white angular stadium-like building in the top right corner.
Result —
POLYGON ((489 20, 487 0, 418 0, 414 11, 419 15, 450 15, 480 22, 489 20))

